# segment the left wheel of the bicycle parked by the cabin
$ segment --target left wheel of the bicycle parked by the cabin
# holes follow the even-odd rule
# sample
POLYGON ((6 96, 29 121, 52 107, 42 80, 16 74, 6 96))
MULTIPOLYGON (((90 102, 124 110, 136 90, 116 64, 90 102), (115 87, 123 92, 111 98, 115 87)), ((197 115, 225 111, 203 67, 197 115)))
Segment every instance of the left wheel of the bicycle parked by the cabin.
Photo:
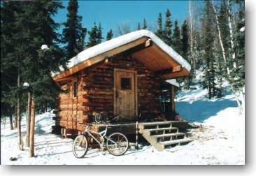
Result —
POLYGON ((88 140, 85 135, 78 135, 73 141, 73 154, 77 158, 83 158, 88 150, 88 140))

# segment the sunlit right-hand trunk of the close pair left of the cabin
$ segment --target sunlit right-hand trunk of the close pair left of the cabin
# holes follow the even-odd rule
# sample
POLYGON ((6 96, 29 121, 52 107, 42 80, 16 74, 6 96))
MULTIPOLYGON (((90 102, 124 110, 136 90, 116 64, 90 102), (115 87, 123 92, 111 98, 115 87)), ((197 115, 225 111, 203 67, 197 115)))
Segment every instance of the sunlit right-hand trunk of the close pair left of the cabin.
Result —
POLYGON ((35 135, 35 103, 34 103, 34 96, 32 96, 30 134, 29 134, 29 157, 34 157, 34 135, 35 135))

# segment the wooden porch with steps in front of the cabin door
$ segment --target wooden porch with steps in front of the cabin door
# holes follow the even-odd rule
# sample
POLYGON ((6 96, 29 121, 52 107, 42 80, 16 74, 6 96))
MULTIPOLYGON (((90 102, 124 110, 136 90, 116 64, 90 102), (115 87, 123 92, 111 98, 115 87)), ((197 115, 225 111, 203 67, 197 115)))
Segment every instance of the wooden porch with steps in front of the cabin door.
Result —
MULTIPOLYGON (((92 123, 94 131, 104 131, 106 124, 92 123)), ((138 122, 138 133, 158 151, 163 151, 167 146, 184 145, 192 140, 187 134, 188 123, 183 120, 162 122, 138 122)), ((136 123, 109 124, 108 134, 120 132, 125 135, 136 134, 136 123)), ((62 135, 76 135, 83 131, 69 131, 62 129, 62 135)))

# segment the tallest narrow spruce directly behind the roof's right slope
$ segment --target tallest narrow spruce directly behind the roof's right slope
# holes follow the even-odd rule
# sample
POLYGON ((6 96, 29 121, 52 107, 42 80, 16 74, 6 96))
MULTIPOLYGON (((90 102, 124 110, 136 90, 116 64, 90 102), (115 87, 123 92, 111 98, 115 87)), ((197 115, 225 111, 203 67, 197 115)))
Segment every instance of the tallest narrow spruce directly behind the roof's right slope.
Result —
POLYGON ((171 22, 171 13, 169 9, 167 8, 166 13, 165 13, 165 25, 164 25, 164 42, 171 46, 171 27, 172 27, 172 22, 171 22))

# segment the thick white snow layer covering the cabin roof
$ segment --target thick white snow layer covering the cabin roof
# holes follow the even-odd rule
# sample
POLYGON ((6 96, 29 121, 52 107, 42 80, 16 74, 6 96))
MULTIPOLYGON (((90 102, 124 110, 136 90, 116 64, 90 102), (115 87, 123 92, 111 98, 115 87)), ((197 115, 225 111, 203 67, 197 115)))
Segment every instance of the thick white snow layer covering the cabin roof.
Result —
MULTIPOLYGON (((82 61, 86 61, 87 59, 95 57, 109 50, 113 50, 115 47, 120 47, 121 45, 125 45, 127 43, 137 40, 138 38, 142 38, 144 36, 151 38, 151 40, 155 44, 157 44, 162 50, 164 50, 164 52, 169 54, 170 57, 175 59, 180 65, 186 68, 187 71, 190 71, 191 66, 185 59, 183 59, 183 57, 181 57, 176 51, 174 51, 171 47, 169 47, 169 45, 166 45, 166 43, 164 43, 154 33, 148 30, 133 31, 129 34, 125 34, 117 38, 113 38, 109 41, 100 43, 99 45, 95 45, 86 50, 83 50, 82 52, 78 53, 75 57, 69 60, 69 63, 67 64, 67 68, 76 66, 76 64, 79 64, 82 61)), ((63 68, 61 68, 61 70, 63 71, 63 68)), ((56 74, 57 73, 52 73, 52 76, 56 74)))

